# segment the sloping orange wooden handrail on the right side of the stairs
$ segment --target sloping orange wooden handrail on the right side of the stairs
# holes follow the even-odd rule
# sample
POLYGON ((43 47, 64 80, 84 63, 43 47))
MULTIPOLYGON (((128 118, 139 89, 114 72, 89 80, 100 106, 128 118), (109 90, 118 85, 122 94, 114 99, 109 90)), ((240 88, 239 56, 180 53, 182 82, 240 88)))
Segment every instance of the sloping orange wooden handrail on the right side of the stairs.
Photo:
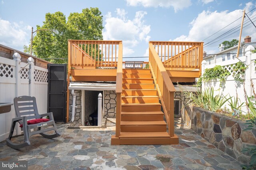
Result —
POLYGON ((169 135, 174 136, 174 92, 176 91, 152 43, 149 43, 149 66, 168 124, 169 135))

